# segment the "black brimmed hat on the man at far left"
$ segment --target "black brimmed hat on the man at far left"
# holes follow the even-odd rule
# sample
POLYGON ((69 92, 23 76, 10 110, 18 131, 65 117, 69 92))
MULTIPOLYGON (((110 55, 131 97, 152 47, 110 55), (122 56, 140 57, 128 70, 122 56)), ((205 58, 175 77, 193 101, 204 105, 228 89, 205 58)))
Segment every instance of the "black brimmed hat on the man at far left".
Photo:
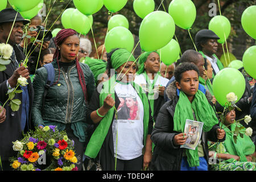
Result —
MULTIPOLYGON (((0 11, 0 23, 14 22, 17 11, 12 8, 3 9, 0 11)), ((30 20, 24 19, 20 13, 18 13, 15 22, 22 21, 23 24, 30 23, 30 20)))

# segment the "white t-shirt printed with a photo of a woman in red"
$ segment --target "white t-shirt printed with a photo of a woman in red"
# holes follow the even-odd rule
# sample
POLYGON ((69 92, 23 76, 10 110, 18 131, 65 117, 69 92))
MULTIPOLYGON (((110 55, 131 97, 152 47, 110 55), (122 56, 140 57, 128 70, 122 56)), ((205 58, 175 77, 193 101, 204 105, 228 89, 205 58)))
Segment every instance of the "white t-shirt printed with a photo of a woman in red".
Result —
POLYGON ((121 103, 112 125, 114 154, 122 160, 135 159, 144 147, 143 103, 131 84, 116 83, 115 93, 121 103))

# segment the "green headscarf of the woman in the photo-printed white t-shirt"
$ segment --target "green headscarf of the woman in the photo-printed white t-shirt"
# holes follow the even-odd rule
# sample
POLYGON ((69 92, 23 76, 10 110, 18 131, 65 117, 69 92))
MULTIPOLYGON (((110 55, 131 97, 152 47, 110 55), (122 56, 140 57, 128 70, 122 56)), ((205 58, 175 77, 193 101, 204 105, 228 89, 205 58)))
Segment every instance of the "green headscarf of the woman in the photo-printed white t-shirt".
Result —
POLYGON ((112 68, 117 69, 127 61, 136 61, 134 56, 126 49, 117 49, 111 56, 112 68))

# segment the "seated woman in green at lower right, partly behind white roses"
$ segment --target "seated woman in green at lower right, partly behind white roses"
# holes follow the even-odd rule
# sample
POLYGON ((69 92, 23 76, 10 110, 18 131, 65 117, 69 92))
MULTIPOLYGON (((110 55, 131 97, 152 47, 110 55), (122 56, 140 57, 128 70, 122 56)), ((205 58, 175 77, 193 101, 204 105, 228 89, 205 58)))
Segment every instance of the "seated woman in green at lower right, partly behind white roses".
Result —
POLYGON ((214 171, 256 171, 255 145, 250 137, 245 135, 245 129, 242 131, 243 137, 238 135, 236 142, 234 141, 232 131, 236 129, 236 124, 233 124, 235 119, 235 110, 226 114, 225 126, 223 127, 226 132, 226 140, 222 143, 216 143, 213 148, 210 148, 212 151, 209 152, 209 156, 215 159, 213 161, 217 161, 217 163, 210 165, 210 169, 214 171))

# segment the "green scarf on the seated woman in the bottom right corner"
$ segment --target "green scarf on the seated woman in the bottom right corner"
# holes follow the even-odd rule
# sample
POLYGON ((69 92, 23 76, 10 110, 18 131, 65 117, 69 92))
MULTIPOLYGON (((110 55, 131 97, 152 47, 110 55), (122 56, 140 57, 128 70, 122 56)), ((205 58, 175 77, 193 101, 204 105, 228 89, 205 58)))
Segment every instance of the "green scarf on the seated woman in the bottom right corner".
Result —
MULTIPOLYGON (((241 125, 242 126, 242 125, 241 125)), ((231 131, 234 131, 236 128, 236 124, 230 126, 231 131)), ((246 155, 251 155, 255 151, 255 146, 253 141, 251 141, 250 137, 246 136, 244 133, 243 138, 238 135, 237 143, 234 142, 233 133, 230 132, 228 127, 224 127, 226 133, 226 139, 224 141, 224 146, 226 148, 226 152, 231 155, 240 156, 241 162, 247 162, 246 155)), ((245 131, 245 129, 243 129, 245 131)), ((233 159, 231 159, 233 161, 233 159)))

